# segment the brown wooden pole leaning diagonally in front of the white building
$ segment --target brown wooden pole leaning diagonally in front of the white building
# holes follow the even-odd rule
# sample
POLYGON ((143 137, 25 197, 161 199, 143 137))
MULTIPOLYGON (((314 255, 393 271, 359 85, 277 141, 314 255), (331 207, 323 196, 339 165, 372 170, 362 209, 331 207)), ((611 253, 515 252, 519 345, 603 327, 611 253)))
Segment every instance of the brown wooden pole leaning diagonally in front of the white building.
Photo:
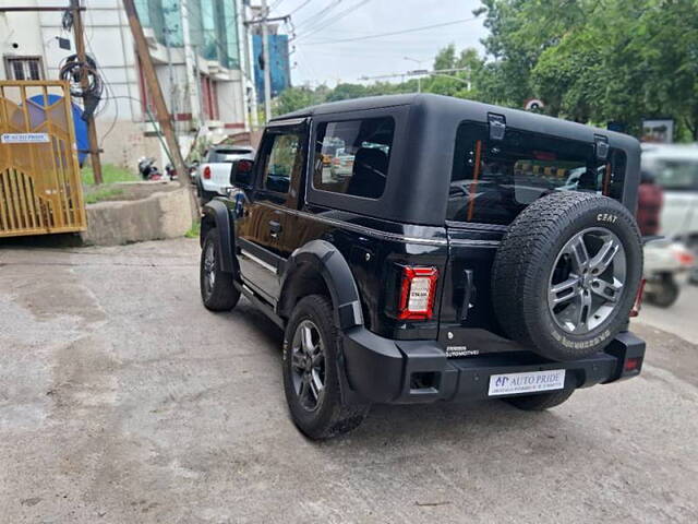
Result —
POLYGON ((129 25, 131 26, 131 33, 133 34, 133 40, 135 41, 136 52, 139 53, 139 58, 141 60, 143 76, 148 87, 148 94, 152 96, 153 102, 155 103, 155 111, 157 112, 157 120, 160 124, 160 131, 163 132, 163 135, 165 135, 165 141, 167 142, 167 146, 170 150, 172 163, 174 164, 174 168, 177 169, 177 172, 179 175, 180 183, 189 184, 189 169, 186 169, 186 167, 184 166, 182 152, 180 151, 179 144, 177 143, 177 138, 174 136, 174 129, 172 128, 172 121, 170 120, 170 112, 167 109, 167 104, 165 103, 165 97, 163 96, 163 90, 160 88, 160 83, 157 80, 155 66, 153 64, 153 59, 151 58, 151 51, 148 51, 148 44, 145 40, 143 26, 141 25, 141 21, 139 20, 139 13, 135 10, 133 0, 123 0, 123 9, 125 10, 127 17, 129 19, 129 25))

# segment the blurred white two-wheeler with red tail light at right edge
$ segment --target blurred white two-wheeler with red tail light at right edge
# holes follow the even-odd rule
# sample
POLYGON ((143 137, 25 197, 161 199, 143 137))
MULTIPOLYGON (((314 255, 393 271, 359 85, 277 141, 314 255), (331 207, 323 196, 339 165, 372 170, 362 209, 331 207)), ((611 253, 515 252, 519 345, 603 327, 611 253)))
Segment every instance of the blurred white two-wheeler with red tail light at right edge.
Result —
POLYGON ((645 299, 669 308, 678 299, 677 276, 694 265, 694 254, 681 242, 653 240, 645 246, 645 299))

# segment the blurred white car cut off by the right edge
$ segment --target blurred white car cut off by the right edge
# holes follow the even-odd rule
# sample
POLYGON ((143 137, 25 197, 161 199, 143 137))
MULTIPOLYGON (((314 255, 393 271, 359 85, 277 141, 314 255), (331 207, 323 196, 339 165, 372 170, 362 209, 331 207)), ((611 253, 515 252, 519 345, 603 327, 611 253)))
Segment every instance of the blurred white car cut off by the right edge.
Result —
MULTIPOLYGON (((661 235, 698 255, 698 144, 645 144, 642 169, 664 190, 661 235)), ((689 278, 698 284, 698 266, 689 278)))

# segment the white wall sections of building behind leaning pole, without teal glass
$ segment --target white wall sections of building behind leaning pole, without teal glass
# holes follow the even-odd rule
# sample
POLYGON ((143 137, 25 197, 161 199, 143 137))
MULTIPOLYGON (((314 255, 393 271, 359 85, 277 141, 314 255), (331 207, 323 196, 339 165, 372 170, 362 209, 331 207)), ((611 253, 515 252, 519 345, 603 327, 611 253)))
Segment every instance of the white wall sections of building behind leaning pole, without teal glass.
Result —
MULTIPOLYGON (((0 0, 0 5, 58 5, 69 0, 0 0)), ((113 163, 134 168, 141 156, 154 156, 164 166, 166 156, 153 126, 142 109, 140 73, 131 28, 121 0, 85 0, 83 12, 86 50, 97 59, 106 82, 105 97, 96 116, 97 134, 104 163, 113 163)), ((47 80, 57 79, 62 60, 75 52, 72 32, 61 27, 61 12, 50 13, 0 13, 0 52, 2 56, 39 56, 47 80), (71 50, 59 48, 57 37, 69 38, 71 50)), ((151 29, 145 28, 146 37, 151 29)), ((151 39, 154 43, 154 39, 151 39)), ((166 103, 176 120, 180 134, 192 134, 197 126, 200 108, 192 108, 200 93, 198 85, 188 82, 183 48, 171 48, 170 58, 174 82, 170 82, 167 48, 154 44, 151 56, 166 103), (192 115, 192 121, 184 121, 192 115)), ((218 82, 219 121, 204 122, 218 139, 226 132, 239 132, 245 122, 244 91, 240 71, 221 68, 209 70, 206 60, 198 59, 196 66, 202 74, 210 74, 218 82)), ((0 79, 5 79, 4 60, 0 67, 0 79)), ((182 144, 191 142, 183 136, 182 144)), ((183 148, 183 153, 188 152, 183 148)))

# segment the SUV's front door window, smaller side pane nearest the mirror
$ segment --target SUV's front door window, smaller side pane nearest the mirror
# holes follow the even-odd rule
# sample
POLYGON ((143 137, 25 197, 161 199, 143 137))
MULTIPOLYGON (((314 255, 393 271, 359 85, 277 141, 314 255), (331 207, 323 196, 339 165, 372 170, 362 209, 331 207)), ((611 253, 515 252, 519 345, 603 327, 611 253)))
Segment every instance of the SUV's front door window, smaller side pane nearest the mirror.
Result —
POLYGON ((262 189, 276 193, 288 193, 291 179, 301 171, 301 135, 297 133, 274 134, 274 142, 266 156, 262 189))

